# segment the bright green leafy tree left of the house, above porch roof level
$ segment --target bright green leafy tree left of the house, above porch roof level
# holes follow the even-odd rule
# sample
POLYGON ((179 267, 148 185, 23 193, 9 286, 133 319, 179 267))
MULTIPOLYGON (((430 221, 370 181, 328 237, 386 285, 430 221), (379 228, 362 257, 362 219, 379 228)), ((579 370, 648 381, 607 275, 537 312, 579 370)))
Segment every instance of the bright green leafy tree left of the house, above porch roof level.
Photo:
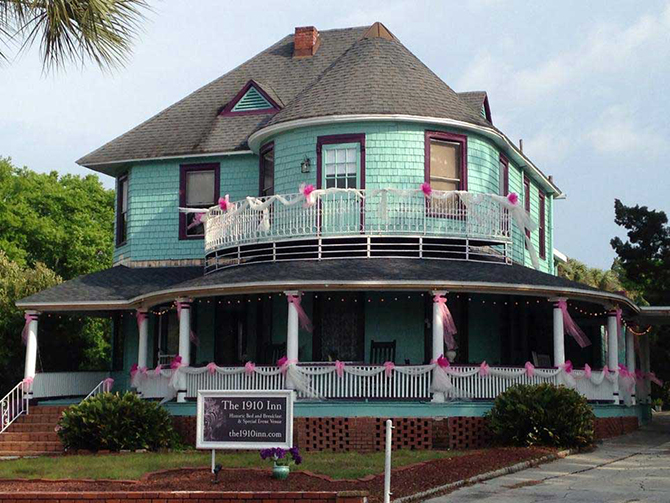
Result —
POLYGON ((0 158, 0 249, 64 279, 112 264, 114 191, 95 175, 35 173, 0 158))

